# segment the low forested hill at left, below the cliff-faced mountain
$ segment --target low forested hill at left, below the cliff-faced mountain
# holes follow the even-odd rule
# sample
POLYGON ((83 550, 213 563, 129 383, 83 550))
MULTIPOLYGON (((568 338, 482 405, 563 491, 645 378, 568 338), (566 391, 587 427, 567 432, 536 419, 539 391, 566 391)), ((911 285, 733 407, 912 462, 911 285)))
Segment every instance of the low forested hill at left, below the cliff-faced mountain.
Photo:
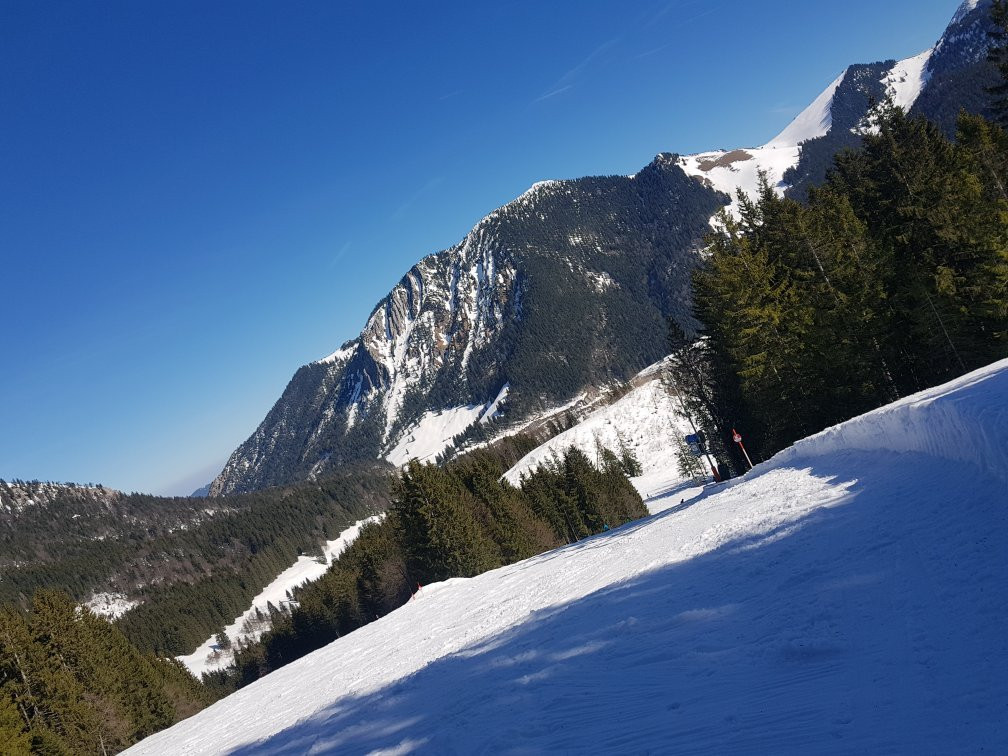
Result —
POLYGON ((0 483, 0 502, 18 502, 0 512, 0 601, 43 588, 116 596, 140 649, 188 652, 299 554, 384 510, 390 485, 381 465, 213 500, 0 483))

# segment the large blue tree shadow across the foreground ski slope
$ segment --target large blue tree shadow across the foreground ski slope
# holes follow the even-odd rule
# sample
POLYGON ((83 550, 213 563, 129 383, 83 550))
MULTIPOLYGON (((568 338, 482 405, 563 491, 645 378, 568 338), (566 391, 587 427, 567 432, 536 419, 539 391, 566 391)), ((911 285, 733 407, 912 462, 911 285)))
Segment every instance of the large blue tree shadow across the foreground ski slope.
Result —
POLYGON ((840 506, 537 611, 233 753, 1003 748, 1003 484, 910 455, 811 473, 853 470, 840 506))

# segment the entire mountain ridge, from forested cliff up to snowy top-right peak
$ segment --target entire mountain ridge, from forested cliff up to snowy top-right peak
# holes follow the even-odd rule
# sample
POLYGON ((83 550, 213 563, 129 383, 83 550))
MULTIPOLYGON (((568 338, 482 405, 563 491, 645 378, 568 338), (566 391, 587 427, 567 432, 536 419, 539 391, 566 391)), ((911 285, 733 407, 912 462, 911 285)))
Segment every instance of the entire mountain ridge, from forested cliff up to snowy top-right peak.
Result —
POLYGON ((629 379, 663 356, 667 317, 697 327, 690 272, 737 188, 753 192, 762 171, 802 197, 887 97, 947 129, 960 108, 983 108, 989 5, 967 0, 918 55, 849 67, 761 147, 533 185, 414 265, 357 339, 300 368, 211 496, 434 459, 629 379))

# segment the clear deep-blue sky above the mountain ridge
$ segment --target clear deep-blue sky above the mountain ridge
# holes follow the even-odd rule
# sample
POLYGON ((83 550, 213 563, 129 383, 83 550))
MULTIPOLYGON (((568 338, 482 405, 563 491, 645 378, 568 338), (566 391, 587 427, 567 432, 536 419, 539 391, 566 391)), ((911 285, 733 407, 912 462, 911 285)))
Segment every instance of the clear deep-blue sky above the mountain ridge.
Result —
POLYGON ((955 0, 0 0, 0 478, 188 493, 542 178, 767 141, 955 0))

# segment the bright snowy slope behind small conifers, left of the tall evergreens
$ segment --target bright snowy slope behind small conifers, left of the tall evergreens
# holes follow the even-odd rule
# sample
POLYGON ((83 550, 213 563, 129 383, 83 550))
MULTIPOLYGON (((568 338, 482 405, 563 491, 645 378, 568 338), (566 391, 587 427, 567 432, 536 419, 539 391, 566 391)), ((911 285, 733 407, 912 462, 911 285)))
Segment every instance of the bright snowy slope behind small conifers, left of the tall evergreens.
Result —
POLYGON ((626 396, 609 406, 601 407, 569 430, 553 436, 533 449, 504 474, 518 485, 527 475, 553 457, 562 457, 572 447, 596 459, 599 445, 617 454, 622 446, 630 449, 640 463, 644 475, 634 479, 642 496, 653 493, 655 487, 678 480, 675 462, 675 438, 692 432, 685 420, 676 416, 676 400, 669 395, 661 379, 655 376, 632 389, 626 396), (657 473, 657 479, 654 474, 657 473))

